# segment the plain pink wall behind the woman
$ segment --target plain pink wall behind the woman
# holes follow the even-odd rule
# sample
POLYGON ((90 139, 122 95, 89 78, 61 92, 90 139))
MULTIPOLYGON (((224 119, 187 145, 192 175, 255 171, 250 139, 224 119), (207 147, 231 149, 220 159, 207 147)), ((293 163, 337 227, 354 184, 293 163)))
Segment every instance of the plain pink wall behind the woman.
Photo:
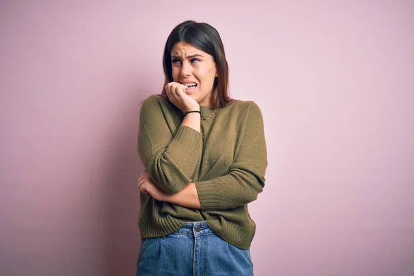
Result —
POLYGON ((255 275, 414 275, 414 2, 242 2, 0 2, 1 275, 134 275, 139 102, 186 19, 264 114, 255 275))

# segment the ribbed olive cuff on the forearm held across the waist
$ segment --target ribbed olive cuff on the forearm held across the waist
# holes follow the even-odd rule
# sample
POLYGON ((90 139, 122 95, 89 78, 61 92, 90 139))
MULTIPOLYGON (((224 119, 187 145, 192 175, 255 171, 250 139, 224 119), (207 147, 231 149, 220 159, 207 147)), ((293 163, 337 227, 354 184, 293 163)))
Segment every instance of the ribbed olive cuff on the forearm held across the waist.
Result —
POLYGON ((201 210, 215 210, 221 206, 220 195, 214 180, 206 180, 195 183, 199 196, 201 210))

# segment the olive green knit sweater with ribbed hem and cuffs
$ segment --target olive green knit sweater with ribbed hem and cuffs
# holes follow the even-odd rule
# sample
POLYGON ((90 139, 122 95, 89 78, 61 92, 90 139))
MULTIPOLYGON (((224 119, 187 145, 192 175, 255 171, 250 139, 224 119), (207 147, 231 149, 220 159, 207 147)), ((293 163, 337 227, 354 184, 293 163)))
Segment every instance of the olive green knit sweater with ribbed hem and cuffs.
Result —
POLYGON ((160 95, 141 106, 138 153, 152 180, 167 193, 194 182, 201 209, 140 194, 141 238, 172 233, 187 221, 206 221, 213 232, 249 248, 256 224, 247 204, 264 187, 267 167, 262 112, 254 101, 234 100, 217 110, 200 106, 201 133, 181 126, 183 112, 160 95))

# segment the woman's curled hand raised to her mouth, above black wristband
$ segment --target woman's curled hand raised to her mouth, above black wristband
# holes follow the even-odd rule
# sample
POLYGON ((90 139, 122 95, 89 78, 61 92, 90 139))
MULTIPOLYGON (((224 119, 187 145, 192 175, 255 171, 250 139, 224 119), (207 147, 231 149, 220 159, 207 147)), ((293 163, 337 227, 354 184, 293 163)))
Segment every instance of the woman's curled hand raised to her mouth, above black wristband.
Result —
POLYGON ((182 112, 200 110, 199 103, 186 94, 186 88, 184 84, 175 81, 167 83, 165 89, 168 99, 182 112))

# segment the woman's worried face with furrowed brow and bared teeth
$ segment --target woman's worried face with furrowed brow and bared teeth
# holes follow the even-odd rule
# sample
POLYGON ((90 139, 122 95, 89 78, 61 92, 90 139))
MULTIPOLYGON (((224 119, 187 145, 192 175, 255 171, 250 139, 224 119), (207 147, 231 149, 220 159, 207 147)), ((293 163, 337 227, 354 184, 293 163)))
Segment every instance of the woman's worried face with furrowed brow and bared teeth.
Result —
POLYGON ((212 106, 213 83, 218 77, 212 55, 180 41, 171 50, 171 67, 174 81, 188 85, 193 83, 186 90, 188 96, 201 106, 212 106))

